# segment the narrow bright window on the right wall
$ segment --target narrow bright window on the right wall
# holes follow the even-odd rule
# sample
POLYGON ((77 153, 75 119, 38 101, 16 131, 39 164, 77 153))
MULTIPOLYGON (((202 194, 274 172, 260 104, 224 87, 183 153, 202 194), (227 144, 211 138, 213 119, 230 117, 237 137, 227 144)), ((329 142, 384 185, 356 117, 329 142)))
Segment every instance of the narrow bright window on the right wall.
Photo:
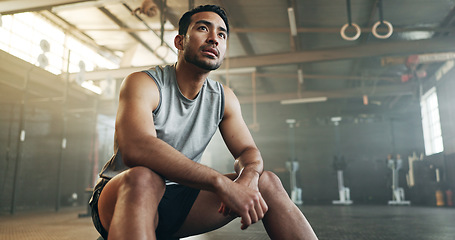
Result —
POLYGON ((420 107, 422 111, 425 154, 428 156, 444 151, 436 88, 433 87, 422 96, 420 107))

